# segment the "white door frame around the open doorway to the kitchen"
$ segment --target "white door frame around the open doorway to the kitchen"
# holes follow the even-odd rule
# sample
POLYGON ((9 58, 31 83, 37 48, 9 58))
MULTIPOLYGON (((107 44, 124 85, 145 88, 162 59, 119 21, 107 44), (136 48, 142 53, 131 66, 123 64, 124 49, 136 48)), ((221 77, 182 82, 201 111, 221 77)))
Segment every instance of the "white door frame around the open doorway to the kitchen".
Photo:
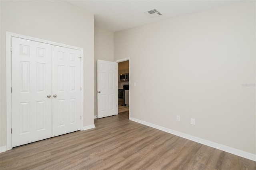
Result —
MULTIPOLYGON (((115 60, 114 62, 120 63, 123 61, 129 61, 129 120, 131 118, 131 57, 115 60)), ((116 65, 116 105, 118 106, 118 64, 116 65)), ((118 107, 116 109, 116 115, 118 115, 118 107)))

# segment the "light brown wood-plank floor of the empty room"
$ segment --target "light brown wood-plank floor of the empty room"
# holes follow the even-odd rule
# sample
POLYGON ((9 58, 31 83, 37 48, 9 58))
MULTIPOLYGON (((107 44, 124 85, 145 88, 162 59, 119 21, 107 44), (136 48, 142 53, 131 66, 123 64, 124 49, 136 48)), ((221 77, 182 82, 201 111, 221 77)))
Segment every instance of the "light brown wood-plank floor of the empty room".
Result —
POLYGON ((129 121, 128 112, 95 125, 0 153, 0 169, 256 169, 254 161, 129 121))

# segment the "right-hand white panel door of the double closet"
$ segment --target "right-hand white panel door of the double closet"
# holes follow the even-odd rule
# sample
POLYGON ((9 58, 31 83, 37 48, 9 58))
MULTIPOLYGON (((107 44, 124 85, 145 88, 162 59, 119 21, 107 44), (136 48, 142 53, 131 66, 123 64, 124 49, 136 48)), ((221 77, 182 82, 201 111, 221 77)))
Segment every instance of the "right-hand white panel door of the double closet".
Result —
POLYGON ((81 51, 52 45, 52 136, 81 129, 81 51))

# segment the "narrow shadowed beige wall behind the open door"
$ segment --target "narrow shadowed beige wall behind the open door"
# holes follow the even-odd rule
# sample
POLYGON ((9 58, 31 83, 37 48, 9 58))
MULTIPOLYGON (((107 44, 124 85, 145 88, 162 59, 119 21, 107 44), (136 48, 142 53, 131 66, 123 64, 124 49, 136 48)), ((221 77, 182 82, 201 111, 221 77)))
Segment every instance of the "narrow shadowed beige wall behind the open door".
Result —
POLYGON ((94 26, 94 115, 97 115, 97 59, 114 61, 114 32, 94 26))

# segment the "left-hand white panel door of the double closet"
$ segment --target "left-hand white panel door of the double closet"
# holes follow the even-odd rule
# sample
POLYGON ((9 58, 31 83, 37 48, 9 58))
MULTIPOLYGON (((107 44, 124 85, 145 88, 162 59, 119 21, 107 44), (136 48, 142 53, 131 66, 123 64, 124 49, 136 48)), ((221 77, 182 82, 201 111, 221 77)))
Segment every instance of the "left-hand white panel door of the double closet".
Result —
POLYGON ((12 147, 52 137, 51 68, 52 45, 12 37, 12 147))

